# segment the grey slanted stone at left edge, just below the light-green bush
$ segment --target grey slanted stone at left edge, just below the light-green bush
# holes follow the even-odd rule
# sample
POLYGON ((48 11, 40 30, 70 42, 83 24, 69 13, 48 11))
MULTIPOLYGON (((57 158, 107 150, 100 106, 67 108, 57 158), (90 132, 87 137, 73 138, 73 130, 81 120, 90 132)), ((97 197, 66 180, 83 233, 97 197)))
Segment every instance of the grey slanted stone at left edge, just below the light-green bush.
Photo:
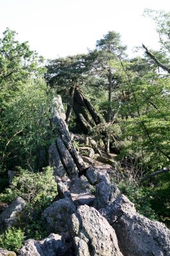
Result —
POLYGON ((17 197, 0 215, 0 229, 11 228, 17 223, 19 214, 26 207, 26 202, 17 197))

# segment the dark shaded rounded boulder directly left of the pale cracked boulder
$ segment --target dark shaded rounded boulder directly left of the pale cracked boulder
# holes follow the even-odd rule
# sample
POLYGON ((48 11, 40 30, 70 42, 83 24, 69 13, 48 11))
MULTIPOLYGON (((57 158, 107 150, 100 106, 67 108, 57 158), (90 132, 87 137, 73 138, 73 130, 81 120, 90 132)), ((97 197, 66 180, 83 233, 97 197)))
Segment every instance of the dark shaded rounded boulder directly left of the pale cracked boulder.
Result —
POLYGON ((68 232, 68 221, 76 207, 70 198, 59 199, 52 203, 45 211, 43 216, 47 220, 49 230, 58 234, 68 232))

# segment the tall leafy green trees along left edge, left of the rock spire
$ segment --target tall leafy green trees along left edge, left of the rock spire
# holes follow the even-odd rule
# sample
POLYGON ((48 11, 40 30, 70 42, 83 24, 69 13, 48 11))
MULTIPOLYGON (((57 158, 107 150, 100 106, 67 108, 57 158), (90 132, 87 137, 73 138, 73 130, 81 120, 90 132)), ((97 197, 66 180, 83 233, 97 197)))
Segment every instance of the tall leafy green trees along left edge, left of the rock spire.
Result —
POLYGON ((0 39, 0 173, 26 163, 33 168, 49 118, 51 94, 42 79, 42 58, 15 34, 6 29, 0 39))

